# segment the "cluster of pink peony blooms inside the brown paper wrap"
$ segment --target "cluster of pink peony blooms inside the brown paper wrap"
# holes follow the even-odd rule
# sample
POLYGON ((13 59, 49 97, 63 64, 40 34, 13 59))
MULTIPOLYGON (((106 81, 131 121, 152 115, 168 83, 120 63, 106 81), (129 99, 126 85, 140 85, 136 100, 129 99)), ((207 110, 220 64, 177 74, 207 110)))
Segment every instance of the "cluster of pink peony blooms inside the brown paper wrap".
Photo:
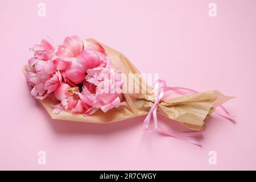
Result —
POLYGON ((71 36, 55 52, 47 37, 31 50, 34 57, 26 67, 31 94, 39 100, 51 98, 53 113, 66 110, 89 115, 120 105, 121 71, 113 68, 100 44, 71 36), (113 88, 117 92, 107 90, 113 88))

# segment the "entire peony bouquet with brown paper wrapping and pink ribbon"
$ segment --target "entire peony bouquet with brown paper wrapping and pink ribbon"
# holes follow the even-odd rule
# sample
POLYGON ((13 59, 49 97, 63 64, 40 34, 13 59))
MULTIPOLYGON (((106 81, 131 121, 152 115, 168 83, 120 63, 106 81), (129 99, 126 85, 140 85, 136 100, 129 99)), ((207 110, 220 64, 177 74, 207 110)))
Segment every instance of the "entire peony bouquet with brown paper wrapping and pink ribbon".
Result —
POLYGON ((152 114, 153 130, 158 127, 171 137, 195 144, 199 142, 188 137, 200 132, 166 131, 158 125, 156 113, 196 131, 203 130, 205 119, 213 112, 233 119, 221 106, 233 97, 224 96, 217 90, 198 93, 187 88, 168 87, 163 80, 157 80, 152 88, 122 53, 96 40, 71 36, 55 49, 52 39, 46 37, 31 51, 34 56, 23 67, 23 72, 32 96, 53 119, 109 123, 147 115, 144 126, 150 130, 152 114), (129 80, 130 75, 133 81, 129 80), (170 90, 182 96, 163 99, 164 93, 170 90), (224 112, 216 109, 218 106, 224 112))

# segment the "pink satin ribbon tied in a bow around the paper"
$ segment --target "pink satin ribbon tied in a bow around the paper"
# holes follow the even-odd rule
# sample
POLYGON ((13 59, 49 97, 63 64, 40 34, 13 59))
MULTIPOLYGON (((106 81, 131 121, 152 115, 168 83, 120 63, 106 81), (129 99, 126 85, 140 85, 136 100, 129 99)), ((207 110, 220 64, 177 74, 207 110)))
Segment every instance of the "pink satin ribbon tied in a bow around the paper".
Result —
MULTIPOLYGON (((197 137, 197 136, 201 136, 203 134, 202 131, 195 131, 195 132, 187 132, 187 133, 176 133, 176 132, 171 132, 171 131, 166 131, 165 129, 163 129, 162 127, 160 127, 158 125, 158 119, 157 119, 157 115, 156 115, 156 111, 158 108, 158 104, 161 101, 161 99, 164 96, 164 93, 166 93, 167 91, 172 90, 174 92, 176 92, 177 94, 181 94, 183 96, 189 94, 190 93, 199 93, 195 90, 192 89, 188 89, 188 88, 183 88, 183 87, 169 87, 166 86, 166 82, 163 80, 156 80, 155 84, 154 84, 154 94, 155 94, 155 102, 154 105, 152 105, 152 107, 150 108, 150 111, 147 114, 147 117, 144 119, 143 125, 144 128, 147 131, 154 131, 156 128, 160 129, 160 131, 162 131, 162 133, 170 136, 170 137, 174 137, 177 139, 181 139, 181 140, 185 140, 189 143, 193 143, 196 144, 197 146, 201 146, 201 143, 195 139, 193 139, 192 137, 197 137), (183 90, 187 91, 184 92, 183 90), (150 124, 150 119, 151 119, 151 115, 153 115, 153 120, 154 120, 154 128, 153 129, 149 129, 149 124, 150 124)), ((224 118, 229 119, 232 122, 234 121, 234 116, 230 115, 228 110, 225 109, 224 106, 220 105, 221 109, 224 111, 224 113, 220 110, 215 109, 214 112, 218 115, 221 115, 224 118)))

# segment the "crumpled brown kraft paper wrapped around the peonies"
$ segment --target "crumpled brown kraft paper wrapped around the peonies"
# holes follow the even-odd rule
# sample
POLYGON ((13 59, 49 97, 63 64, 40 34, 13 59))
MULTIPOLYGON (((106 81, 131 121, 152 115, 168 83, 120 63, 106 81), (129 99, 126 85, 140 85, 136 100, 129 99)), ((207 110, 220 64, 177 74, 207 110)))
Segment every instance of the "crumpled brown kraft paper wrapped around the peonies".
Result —
MULTIPOLYGON (((88 40, 97 42, 94 39, 88 40)), ((155 101, 152 88, 145 84, 145 81, 139 81, 142 79, 139 77, 140 72, 134 67, 131 61, 126 58, 125 55, 102 43, 100 44, 106 50, 106 53, 112 61, 114 68, 121 69, 123 74, 125 74, 127 77, 129 73, 137 73, 134 74, 135 77, 138 77, 135 78, 135 82, 133 83, 134 88, 139 86, 139 90, 141 90, 144 87, 146 88, 147 92, 124 93, 126 101, 122 102, 119 107, 113 108, 106 113, 98 110, 96 113, 87 116, 83 114, 71 113, 69 111, 61 111, 59 114, 53 114, 52 105, 54 105, 54 103, 51 98, 46 98, 42 101, 39 100, 44 108, 48 111, 52 119, 92 123, 110 123, 148 114, 150 107, 155 101)), ((127 83, 127 88, 129 88, 129 83, 127 83)), ((217 106, 223 104, 231 98, 233 97, 224 96, 217 90, 189 94, 187 96, 160 101, 160 104, 158 105, 158 113, 180 122, 191 130, 199 131, 203 130, 205 123, 204 120, 207 115, 212 114, 217 106)))

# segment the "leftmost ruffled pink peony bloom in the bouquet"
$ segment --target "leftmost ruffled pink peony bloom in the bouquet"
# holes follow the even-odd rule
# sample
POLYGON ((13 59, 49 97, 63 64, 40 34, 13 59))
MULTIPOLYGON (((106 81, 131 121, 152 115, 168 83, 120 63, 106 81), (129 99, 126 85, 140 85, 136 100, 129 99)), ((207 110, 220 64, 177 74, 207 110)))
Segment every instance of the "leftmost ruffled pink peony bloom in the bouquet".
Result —
POLYGON ((61 73, 56 71, 52 60, 56 59, 55 46, 51 38, 41 40, 40 45, 31 48, 34 57, 28 60, 26 78, 35 98, 43 100, 53 92, 62 81, 61 73))

